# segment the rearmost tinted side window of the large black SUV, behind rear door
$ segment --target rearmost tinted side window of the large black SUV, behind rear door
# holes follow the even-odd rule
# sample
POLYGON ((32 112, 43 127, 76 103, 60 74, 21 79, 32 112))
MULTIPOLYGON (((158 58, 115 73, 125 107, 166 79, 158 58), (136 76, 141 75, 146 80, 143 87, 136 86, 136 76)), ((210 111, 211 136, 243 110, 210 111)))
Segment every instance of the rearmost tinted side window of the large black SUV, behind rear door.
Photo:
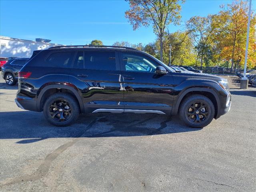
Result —
POLYGON ((54 52, 47 58, 47 62, 52 66, 60 68, 70 68, 75 52, 54 52))

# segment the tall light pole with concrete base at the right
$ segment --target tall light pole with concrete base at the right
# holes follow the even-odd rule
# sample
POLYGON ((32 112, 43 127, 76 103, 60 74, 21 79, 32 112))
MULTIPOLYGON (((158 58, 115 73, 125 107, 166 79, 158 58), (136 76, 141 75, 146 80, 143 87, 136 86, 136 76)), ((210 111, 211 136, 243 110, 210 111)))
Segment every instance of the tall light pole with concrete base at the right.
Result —
POLYGON ((250 32, 250 20, 251 20, 251 7, 252 0, 250 0, 249 4, 249 12, 248 12, 248 24, 247 24, 247 37, 246 37, 246 49, 245 49, 245 58, 244 58, 244 77, 242 77, 240 82, 240 89, 248 88, 248 79, 246 77, 246 66, 247 66, 247 57, 248 57, 248 44, 249 44, 249 32, 250 32))

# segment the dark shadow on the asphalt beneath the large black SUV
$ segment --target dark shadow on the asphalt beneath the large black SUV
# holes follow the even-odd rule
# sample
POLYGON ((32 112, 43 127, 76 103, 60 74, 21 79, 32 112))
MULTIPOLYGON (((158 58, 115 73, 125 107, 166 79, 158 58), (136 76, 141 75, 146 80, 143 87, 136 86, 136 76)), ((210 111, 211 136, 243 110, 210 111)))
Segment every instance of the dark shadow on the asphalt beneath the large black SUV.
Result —
POLYGON ((42 113, 0 112, 0 139, 22 139, 26 144, 47 138, 122 137, 197 131, 178 117, 156 114, 82 114, 75 124, 55 127, 42 113))

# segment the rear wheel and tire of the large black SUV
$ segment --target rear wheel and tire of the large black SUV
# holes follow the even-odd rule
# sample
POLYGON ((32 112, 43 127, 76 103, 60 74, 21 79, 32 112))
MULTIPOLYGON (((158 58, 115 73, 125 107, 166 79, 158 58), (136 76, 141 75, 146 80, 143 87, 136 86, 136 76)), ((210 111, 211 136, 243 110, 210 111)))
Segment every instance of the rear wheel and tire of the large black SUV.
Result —
POLYGON ((54 126, 68 126, 79 116, 80 108, 70 94, 56 93, 44 103, 44 117, 54 126))

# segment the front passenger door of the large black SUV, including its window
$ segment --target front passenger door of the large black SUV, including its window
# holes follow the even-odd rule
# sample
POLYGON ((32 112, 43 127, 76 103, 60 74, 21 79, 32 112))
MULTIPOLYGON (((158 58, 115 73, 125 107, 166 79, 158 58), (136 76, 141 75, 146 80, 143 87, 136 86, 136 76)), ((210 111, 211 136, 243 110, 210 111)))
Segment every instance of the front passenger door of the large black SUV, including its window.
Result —
POLYGON ((144 54, 120 52, 120 62, 124 111, 170 114, 174 92, 172 76, 156 74, 159 64, 144 54))

